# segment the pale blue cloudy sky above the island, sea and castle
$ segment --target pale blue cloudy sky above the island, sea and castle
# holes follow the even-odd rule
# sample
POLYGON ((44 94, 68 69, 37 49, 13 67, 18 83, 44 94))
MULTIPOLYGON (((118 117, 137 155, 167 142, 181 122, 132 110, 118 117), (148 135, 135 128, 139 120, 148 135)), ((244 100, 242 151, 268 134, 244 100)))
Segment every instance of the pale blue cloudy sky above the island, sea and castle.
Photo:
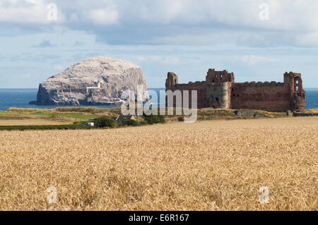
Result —
POLYGON ((318 87, 317 0, 0 0, 0 88, 37 88, 94 56, 141 66, 148 87, 302 73, 318 87))

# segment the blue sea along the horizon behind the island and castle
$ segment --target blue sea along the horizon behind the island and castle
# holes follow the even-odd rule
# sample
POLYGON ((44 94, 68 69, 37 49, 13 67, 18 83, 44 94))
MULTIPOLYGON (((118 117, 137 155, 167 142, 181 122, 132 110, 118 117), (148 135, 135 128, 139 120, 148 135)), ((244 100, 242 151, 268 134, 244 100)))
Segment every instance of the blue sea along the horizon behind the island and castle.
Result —
MULTIPOLYGON (((306 91, 306 109, 318 109, 318 88, 304 88, 306 91)), ((165 88, 149 88, 148 91, 155 92, 158 95, 158 102, 152 102, 154 105, 165 105, 165 97, 162 95, 165 88)), ((63 106, 36 106, 28 104, 37 99, 37 89, 0 89, 0 111, 6 111, 9 108, 37 108, 54 109, 63 106)), ((66 106, 69 107, 69 106, 66 106)), ((87 107, 87 106, 80 106, 87 107)), ((98 108, 112 108, 112 106, 90 106, 98 108)))

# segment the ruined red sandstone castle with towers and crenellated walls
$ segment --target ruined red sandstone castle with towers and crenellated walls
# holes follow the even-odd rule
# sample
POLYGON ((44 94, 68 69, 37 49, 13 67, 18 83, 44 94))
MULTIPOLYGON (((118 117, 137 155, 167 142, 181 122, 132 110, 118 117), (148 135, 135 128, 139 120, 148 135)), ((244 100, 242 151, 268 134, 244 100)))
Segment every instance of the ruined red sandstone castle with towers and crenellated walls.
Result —
MULTIPOLYGON (((305 111, 305 90, 300 73, 285 73, 284 82, 235 83, 234 73, 209 69, 206 81, 179 84, 175 73, 167 73, 165 90, 197 91, 197 107, 214 109, 259 109, 266 111, 305 111)), ((176 99, 173 106, 176 106, 176 99)), ((167 104, 167 101, 166 101, 167 104)))

